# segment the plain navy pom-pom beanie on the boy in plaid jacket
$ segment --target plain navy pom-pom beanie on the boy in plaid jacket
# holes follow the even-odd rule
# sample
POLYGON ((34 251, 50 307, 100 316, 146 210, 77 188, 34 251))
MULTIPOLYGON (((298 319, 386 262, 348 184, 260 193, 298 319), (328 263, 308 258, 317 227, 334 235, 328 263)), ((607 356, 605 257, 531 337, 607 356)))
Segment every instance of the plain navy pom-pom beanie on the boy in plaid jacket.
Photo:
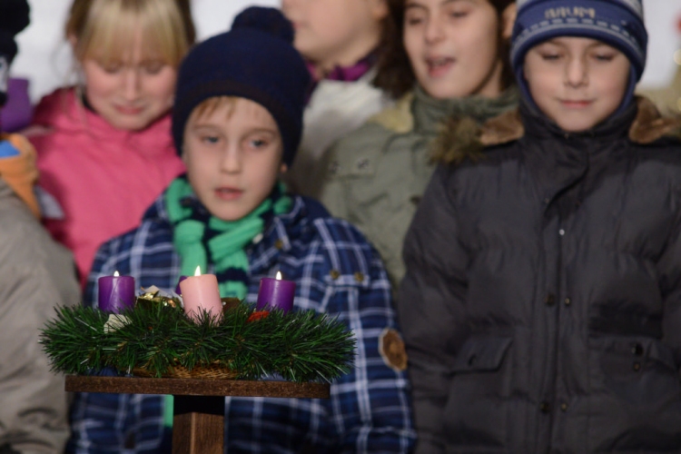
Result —
POLYGON ((232 29, 197 44, 180 65, 173 105, 173 140, 182 154, 193 109, 214 96, 238 96, 265 107, 279 127, 283 162, 291 165, 301 142, 302 112, 311 82, 293 48, 291 23, 275 8, 252 6, 232 29))

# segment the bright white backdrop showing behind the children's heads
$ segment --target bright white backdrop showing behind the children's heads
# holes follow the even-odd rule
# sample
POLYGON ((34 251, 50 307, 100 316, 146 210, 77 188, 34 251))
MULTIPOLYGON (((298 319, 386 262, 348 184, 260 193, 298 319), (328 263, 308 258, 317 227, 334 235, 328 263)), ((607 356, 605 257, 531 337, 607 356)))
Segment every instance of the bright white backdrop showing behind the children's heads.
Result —
MULTIPOLYGON (((19 54, 12 73, 31 81, 34 102, 54 87, 67 84, 73 73, 70 50, 63 38, 70 3, 71 0, 29 0, 31 25, 17 37, 19 54)), ((192 0, 192 13, 199 39, 203 39, 226 30, 233 16, 247 5, 279 4, 280 0, 192 0)), ((681 48, 681 0, 644 0, 644 6, 650 43, 641 85, 662 87, 676 72, 673 55, 681 48)))

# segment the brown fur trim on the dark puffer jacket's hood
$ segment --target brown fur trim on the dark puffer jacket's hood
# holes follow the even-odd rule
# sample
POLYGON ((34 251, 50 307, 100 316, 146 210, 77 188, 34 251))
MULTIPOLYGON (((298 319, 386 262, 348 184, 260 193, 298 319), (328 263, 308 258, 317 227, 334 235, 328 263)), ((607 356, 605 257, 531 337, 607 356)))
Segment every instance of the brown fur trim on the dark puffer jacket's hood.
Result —
MULTIPOLYGON (((469 117, 451 116, 442 124, 442 132, 433 143, 432 160, 457 164, 477 161, 485 147, 518 140, 525 134, 519 109, 501 114, 480 125, 469 117)), ((637 116, 628 133, 633 143, 653 143, 663 137, 681 140, 681 118, 662 116, 655 104, 637 97, 637 116)))

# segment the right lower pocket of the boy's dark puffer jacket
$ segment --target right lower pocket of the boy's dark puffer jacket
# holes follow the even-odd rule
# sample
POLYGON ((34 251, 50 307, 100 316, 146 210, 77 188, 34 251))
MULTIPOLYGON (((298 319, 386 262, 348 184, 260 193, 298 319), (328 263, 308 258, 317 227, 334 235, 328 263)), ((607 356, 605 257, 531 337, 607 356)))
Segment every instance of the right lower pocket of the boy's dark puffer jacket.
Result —
POLYGON ((591 452, 679 452, 681 382, 674 350, 655 338, 589 339, 591 452))

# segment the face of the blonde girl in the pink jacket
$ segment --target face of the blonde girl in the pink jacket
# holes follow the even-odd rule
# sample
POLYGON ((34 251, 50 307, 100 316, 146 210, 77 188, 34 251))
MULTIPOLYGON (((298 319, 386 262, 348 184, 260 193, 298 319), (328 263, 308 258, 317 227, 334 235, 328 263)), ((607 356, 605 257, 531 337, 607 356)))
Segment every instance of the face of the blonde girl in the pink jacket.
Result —
POLYGON ((176 69, 144 51, 138 35, 118 59, 93 54, 81 62, 87 101, 116 129, 142 130, 173 105, 176 69))

